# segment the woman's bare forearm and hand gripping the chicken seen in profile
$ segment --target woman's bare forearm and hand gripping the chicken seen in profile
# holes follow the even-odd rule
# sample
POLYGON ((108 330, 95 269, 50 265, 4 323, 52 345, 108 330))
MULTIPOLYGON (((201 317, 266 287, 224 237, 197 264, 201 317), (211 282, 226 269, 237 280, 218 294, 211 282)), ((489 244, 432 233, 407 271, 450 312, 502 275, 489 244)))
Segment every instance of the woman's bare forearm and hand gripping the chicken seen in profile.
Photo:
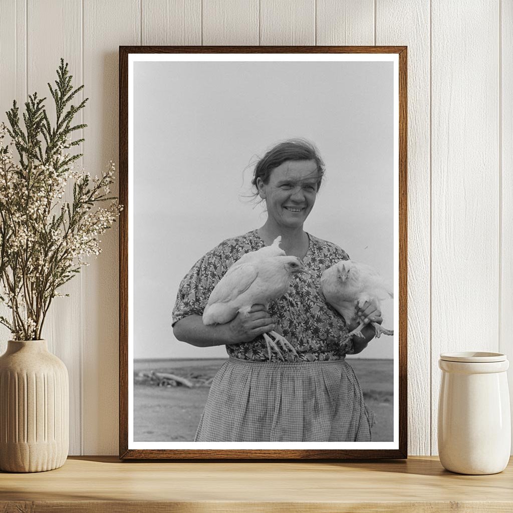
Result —
POLYGON ((253 305, 246 315, 238 313, 226 324, 205 326, 201 315, 189 315, 173 326, 174 336, 197 347, 223 346, 250 342, 274 329, 274 321, 263 305, 253 305))

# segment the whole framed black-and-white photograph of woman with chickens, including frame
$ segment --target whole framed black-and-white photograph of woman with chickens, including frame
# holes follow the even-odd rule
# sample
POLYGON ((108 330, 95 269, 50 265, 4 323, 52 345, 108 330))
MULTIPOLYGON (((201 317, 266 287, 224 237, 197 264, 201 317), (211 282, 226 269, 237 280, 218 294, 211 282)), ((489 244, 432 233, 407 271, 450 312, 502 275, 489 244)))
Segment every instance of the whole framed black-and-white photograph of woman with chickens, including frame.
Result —
POLYGON ((407 457, 406 47, 120 47, 120 457, 407 457))

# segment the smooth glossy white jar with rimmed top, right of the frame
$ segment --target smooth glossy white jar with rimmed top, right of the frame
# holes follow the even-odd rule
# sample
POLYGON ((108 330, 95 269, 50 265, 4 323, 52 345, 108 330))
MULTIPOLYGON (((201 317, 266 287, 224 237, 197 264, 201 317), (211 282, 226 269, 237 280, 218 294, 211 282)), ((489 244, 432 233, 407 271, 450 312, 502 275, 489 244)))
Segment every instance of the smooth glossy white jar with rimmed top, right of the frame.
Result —
POLYGON ((452 472, 501 472, 511 449, 506 355, 442 353, 438 407, 440 463, 452 472))

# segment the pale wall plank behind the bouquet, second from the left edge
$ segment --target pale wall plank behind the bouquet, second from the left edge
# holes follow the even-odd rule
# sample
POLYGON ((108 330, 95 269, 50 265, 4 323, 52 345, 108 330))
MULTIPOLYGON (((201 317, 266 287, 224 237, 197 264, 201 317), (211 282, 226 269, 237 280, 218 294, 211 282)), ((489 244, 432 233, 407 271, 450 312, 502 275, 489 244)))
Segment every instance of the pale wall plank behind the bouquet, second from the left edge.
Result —
MULTIPOLYGON (((69 63, 75 87, 82 84, 82 5, 81 0, 29 0, 27 12, 29 28, 27 38, 28 91, 46 96, 46 109, 55 122, 55 104, 48 89, 48 82, 55 87, 56 69, 61 57, 69 63), (48 30, 48 27, 52 30, 48 30), (42 42, 45 42, 42 44, 42 42)), ((81 101, 82 95, 77 97, 81 101)), ((77 115, 74 124, 81 123, 77 115)), ((82 131, 74 134, 80 139, 82 131)), ((74 153, 81 147, 72 148, 74 153)), ((73 200, 70 188, 64 201, 73 200)), ((68 368, 70 385, 70 454, 81 454, 81 386, 82 386, 82 288, 80 277, 75 277, 59 292, 68 298, 54 298, 43 326, 42 337, 48 348, 68 368), (76 322, 78 320, 78 322, 76 322)))

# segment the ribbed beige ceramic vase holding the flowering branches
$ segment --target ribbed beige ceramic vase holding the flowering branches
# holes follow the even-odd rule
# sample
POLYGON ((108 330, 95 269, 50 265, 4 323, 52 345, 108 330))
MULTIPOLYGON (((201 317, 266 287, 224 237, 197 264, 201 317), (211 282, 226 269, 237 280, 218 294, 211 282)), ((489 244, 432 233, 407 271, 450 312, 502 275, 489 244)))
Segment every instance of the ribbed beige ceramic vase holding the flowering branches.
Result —
POLYGON ((52 470, 68 448, 66 366, 45 340, 10 340, 0 357, 0 470, 52 470))

